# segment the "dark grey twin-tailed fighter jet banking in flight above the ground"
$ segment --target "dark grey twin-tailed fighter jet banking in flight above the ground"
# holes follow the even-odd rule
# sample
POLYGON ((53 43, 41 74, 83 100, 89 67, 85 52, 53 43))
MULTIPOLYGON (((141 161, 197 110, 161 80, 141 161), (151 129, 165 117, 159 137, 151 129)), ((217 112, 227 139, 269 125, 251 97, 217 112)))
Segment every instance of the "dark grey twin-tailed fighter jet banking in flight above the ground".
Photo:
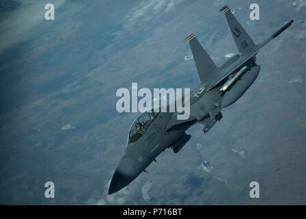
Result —
POLYGON ((191 138, 185 132, 189 127, 200 123, 207 133, 221 120, 221 110, 236 102, 258 77, 260 66, 256 64, 256 55, 260 49, 293 23, 289 21, 264 42, 255 44, 227 5, 220 12, 225 14, 238 54, 216 66, 195 34, 186 38, 199 76, 199 86, 190 96, 189 119, 178 120, 178 112, 145 112, 137 117, 130 126, 126 151, 111 179, 109 194, 146 172, 145 168, 156 162, 156 157, 165 149, 178 153, 191 138))

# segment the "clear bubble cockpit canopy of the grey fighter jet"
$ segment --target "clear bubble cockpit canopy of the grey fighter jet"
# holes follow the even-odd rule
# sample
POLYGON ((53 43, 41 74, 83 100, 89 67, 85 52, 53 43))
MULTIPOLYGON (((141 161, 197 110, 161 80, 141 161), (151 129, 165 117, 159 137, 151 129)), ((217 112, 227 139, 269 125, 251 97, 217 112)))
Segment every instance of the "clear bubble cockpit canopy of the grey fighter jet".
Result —
POLYGON ((153 121, 158 116, 159 112, 144 112, 138 116, 130 126, 128 132, 128 144, 136 142, 145 131, 150 127, 153 121))

